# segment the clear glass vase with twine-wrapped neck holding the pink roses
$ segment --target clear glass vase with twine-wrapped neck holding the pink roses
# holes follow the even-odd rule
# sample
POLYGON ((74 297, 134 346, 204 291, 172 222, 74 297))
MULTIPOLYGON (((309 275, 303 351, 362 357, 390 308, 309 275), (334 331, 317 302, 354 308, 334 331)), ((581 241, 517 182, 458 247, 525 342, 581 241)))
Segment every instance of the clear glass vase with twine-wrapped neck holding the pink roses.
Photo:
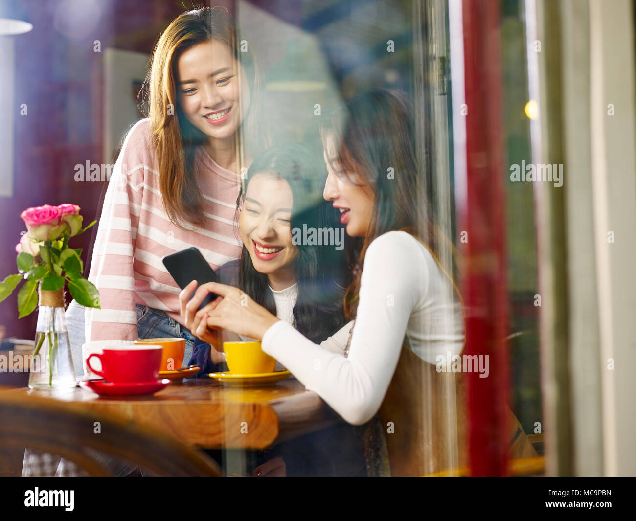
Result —
POLYGON ((71 342, 64 315, 64 288, 39 289, 38 326, 29 375, 31 389, 76 386, 71 342))

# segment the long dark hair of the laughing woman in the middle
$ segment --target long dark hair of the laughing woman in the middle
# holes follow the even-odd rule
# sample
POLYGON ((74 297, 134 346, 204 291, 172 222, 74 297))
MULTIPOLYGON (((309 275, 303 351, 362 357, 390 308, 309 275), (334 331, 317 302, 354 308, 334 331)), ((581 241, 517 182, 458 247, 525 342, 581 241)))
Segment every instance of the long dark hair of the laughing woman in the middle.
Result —
MULTIPOLYGON (((285 179, 293 193, 291 230, 331 228, 336 232, 336 214, 323 198, 326 171, 324 161, 300 143, 270 148, 254 159, 241 189, 238 207, 242 206, 249 180, 256 174, 270 174, 285 179)), ((340 226, 342 228, 342 226, 340 226)), ((346 233, 341 230, 346 242, 346 233)), ((298 283, 298 300, 294 305, 294 326, 312 342, 322 342, 345 325, 343 296, 349 284, 346 249, 336 251, 334 245, 296 245, 294 272, 298 283)), ((345 246, 343 244, 343 246, 345 246)), ((254 268, 243 246, 239 261, 239 287, 255 302, 276 314, 276 304, 266 274, 254 268)))

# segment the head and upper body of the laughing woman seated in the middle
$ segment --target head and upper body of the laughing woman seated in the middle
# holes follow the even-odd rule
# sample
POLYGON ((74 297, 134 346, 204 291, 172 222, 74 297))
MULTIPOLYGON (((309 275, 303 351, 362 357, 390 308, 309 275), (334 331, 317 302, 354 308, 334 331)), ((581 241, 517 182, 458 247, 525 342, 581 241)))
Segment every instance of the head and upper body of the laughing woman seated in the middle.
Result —
MULTIPOLYGON (((237 286, 317 344, 347 322, 342 298, 349 283, 345 233, 322 199, 322 179, 321 158, 300 143, 256 156, 237 200, 240 259, 217 270, 221 281, 237 286), (311 244, 303 230, 315 230, 332 244, 311 244)), ((211 363, 223 360, 221 335, 207 330, 200 338, 204 342, 195 342, 191 364, 207 375, 215 369, 211 363)))

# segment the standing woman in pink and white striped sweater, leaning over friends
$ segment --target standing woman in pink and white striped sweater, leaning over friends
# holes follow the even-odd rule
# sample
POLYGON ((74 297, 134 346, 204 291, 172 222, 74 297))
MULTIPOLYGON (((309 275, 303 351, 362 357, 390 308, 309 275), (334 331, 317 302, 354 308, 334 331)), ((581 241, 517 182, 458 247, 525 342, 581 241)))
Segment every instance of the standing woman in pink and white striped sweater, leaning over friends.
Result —
POLYGON ((76 371, 95 340, 194 337, 162 257, 196 246, 216 269, 239 258, 240 173, 265 148, 258 69, 223 10, 177 17, 148 74, 149 118, 130 129, 104 199, 88 279, 100 309, 67 310, 76 371), (259 142, 260 141, 260 142, 259 142))

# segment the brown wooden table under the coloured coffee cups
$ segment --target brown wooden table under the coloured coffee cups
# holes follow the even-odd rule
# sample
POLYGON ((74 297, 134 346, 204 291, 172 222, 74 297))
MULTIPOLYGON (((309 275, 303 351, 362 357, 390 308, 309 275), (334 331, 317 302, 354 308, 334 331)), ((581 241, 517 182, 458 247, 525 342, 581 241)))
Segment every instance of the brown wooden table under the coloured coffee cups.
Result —
POLYGON ((212 379, 172 382, 153 396, 100 398, 75 389, 11 389, 64 401, 85 412, 116 415, 204 448, 265 448, 342 421, 294 378, 274 386, 229 387, 212 379))

